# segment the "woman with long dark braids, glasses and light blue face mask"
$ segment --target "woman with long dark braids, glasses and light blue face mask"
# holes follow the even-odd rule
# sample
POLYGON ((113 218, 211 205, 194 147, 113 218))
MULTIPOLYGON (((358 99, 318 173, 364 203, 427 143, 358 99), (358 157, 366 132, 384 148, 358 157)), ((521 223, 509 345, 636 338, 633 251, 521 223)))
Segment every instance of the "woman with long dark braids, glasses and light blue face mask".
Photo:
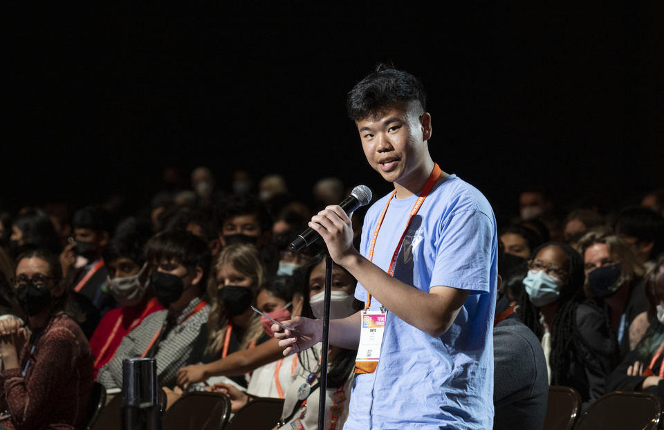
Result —
POLYGON ((605 392, 619 361, 609 320, 584 297, 583 261, 564 243, 537 247, 528 261, 519 317, 542 340, 549 383, 578 391, 583 409, 605 392))

